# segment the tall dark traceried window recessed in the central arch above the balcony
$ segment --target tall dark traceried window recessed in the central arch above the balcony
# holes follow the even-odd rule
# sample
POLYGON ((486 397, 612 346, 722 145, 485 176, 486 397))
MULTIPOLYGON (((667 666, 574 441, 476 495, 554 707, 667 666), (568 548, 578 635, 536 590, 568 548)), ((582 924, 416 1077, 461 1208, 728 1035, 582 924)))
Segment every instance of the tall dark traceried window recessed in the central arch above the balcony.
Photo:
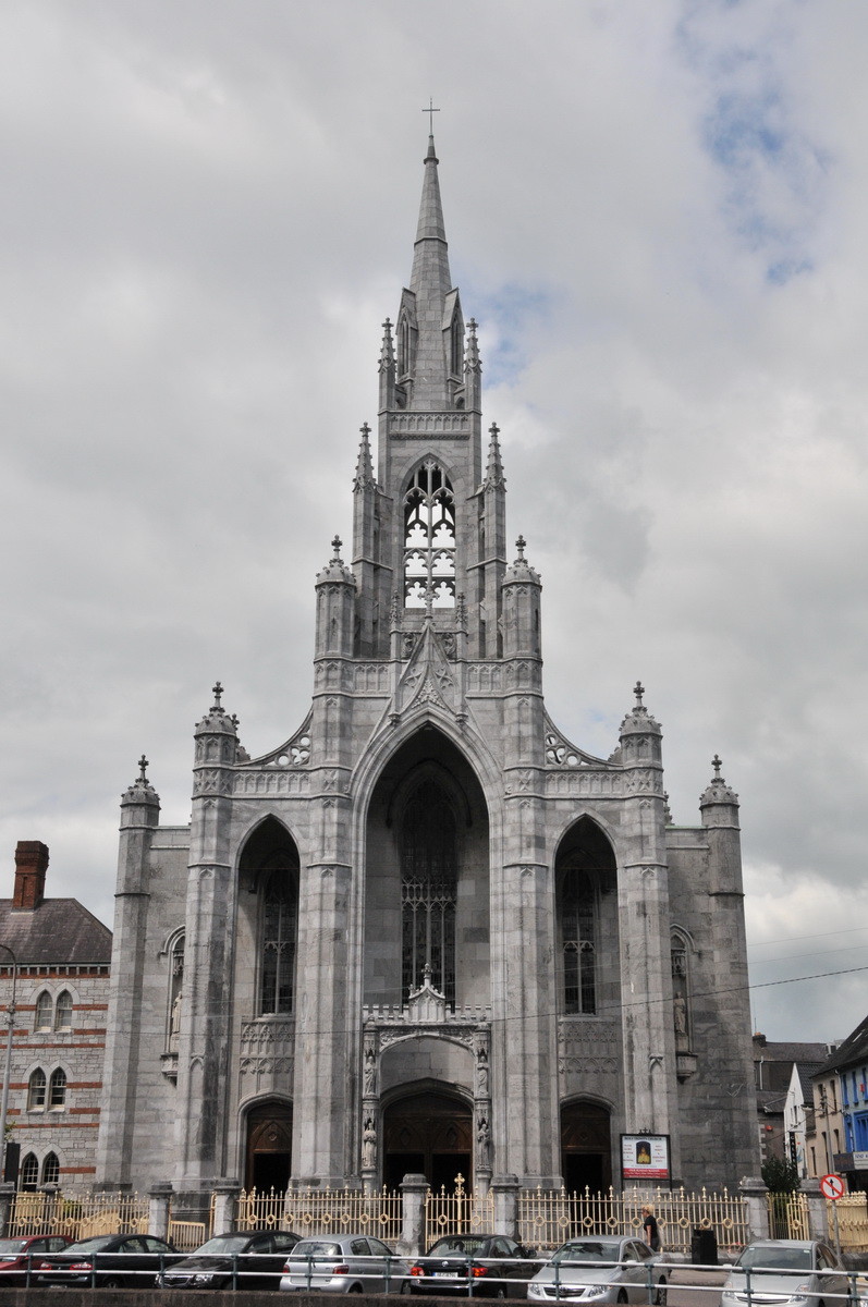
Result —
POLYGON ((401 825, 404 999, 429 972, 455 1002, 456 878, 455 814, 442 787, 427 779, 413 791, 401 825))

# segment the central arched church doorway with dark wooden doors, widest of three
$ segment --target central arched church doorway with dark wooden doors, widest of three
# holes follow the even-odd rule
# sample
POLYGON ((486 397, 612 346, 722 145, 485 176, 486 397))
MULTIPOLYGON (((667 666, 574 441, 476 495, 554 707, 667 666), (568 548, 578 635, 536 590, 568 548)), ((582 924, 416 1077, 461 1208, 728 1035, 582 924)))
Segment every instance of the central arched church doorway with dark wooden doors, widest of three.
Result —
POLYGON ((383 1184, 396 1189, 405 1175, 424 1175, 439 1192, 473 1183, 473 1116, 467 1103, 450 1094, 413 1094, 383 1114, 383 1184))

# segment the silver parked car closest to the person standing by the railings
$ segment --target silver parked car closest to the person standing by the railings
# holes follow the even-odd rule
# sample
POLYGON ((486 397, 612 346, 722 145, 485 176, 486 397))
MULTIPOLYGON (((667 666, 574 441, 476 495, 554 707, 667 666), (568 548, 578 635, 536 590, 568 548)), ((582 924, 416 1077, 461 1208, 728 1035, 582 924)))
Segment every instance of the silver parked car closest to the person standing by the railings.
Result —
POLYGON ((586 1298, 595 1303, 665 1303, 668 1266, 660 1253, 631 1235, 567 1239, 528 1285, 527 1295, 586 1298))

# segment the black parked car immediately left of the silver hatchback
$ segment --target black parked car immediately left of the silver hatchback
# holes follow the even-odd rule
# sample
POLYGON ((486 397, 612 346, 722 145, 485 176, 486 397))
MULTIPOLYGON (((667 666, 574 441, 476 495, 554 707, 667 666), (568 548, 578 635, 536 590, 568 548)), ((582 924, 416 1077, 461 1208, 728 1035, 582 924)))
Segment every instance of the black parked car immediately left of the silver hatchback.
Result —
POLYGON ((214 1235, 157 1276, 162 1289, 278 1289, 292 1230, 230 1230, 214 1235))

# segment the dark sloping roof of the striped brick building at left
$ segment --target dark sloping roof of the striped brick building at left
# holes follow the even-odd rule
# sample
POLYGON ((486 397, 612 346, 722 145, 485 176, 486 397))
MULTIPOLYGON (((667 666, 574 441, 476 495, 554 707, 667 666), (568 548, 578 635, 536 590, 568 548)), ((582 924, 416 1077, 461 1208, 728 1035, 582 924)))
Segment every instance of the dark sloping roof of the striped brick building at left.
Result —
MULTIPOLYGON (((111 962, 111 931, 77 899, 43 899, 33 910, 0 899, 0 944, 24 966, 103 966, 111 962)), ((0 966, 9 954, 0 953, 0 966)))

